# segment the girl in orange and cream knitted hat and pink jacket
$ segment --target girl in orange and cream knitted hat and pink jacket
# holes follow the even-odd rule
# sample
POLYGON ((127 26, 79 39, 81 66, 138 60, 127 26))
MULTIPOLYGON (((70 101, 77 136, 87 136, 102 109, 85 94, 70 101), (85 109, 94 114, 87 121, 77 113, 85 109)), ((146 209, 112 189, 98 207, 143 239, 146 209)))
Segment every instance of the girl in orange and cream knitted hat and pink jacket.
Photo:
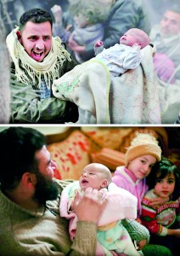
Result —
POLYGON ((161 158, 161 148, 155 137, 150 134, 138 133, 132 140, 125 154, 125 166, 116 168, 113 183, 122 189, 127 189, 138 199, 138 218, 141 214, 141 201, 148 191, 146 177, 152 166, 161 158))

